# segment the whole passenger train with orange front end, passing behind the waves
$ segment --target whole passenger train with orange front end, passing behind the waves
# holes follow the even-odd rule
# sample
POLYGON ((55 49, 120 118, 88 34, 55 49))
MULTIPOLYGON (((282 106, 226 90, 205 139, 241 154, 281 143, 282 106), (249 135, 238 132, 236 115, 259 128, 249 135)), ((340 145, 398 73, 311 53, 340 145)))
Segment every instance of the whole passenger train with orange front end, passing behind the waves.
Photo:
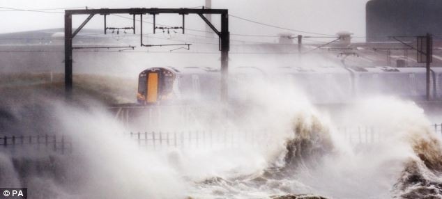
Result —
MULTIPOLYGON (((229 101, 251 100, 252 79, 284 80, 300 88, 316 104, 350 102, 373 95, 393 95, 409 100, 426 99, 425 67, 294 67, 264 70, 232 67, 229 101)), ((220 100, 220 70, 211 67, 152 67, 139 74, 138 104, 191 103, 220 100)), ((430 96, 442 100, 442 67, 432 67, 430 96)))

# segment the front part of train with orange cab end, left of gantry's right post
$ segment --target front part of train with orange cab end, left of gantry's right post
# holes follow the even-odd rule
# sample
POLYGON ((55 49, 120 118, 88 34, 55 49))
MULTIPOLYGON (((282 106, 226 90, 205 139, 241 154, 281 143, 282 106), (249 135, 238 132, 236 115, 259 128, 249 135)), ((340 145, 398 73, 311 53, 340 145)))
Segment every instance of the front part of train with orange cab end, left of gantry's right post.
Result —
POLYGON ((219 100, 220 72, 206 67, 152 67, 139 74, 137 102, 219 100))

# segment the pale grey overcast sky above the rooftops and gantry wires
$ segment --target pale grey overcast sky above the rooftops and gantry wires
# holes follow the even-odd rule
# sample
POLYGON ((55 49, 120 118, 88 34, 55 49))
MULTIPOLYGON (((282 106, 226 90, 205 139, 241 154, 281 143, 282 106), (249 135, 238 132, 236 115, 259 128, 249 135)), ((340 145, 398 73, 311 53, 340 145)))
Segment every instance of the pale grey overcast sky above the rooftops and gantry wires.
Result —
MULTIPOLYGON (((227 8, 229 14, 252 19, 275 26, 298 29, 315 33, 335 34, 337 31, 350 31, 355 35, 365 35, 365 3, 367 0, 213 0, 212 8, 227 8)), ((204 6, 204 0, 4 0, 0 7, 20 9, 44 9, 89 6, 91 8, 183 8, 204 6)), ((0 10, 7 10, 0 8, 0 10)), ((53 10, 63 11, 63 10, 53 10)), ((8 12, 1 11, 0 33, 52 29, 63 27, 63 14, 8 12)), ((84 17, 75 17, 77 26, 84 17)), ((174 16, 158 19, 162 24, 179 25, 180 18, 174 16), (175 23, 175 24, 174 24, 175 23), (178 24, 176 24, 178 23, 178 24)), ((216 18, 214 18, 216 22, 216 18)), ((275 35, 284 31, 259 26, 230 17, 230 32, 244 34, 275 35)), ((121 19, 111 19, 113 26, 126 26, 121 19)), ((130 23, 130 22, 129 22, 130 23)), ((186 26, 192 29, 205 29, 201 19, 188 17, 186 26), (188 26, 189 23, 189 26, 188 26)), ((89 29, 102 28, 102 18, 94 17, 86 26, 89 29)))

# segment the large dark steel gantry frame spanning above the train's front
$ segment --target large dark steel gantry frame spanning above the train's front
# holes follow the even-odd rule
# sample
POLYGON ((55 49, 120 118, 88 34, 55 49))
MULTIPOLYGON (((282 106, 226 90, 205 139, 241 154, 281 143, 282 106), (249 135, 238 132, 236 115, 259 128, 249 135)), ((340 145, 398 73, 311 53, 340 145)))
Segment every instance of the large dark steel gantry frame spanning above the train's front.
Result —
MULTIPOLYGON (((86 10, 65 10, 65 90, 68 98, 72 95, 73 90, 73 38, 79 31, 89 22, 94 15, 112 15, 112 14, 128 14, 135 15, 159 15, 159 14, 178 14, 183 15, 183 33, 184 33, 184 15, 195 14, 199 15, 206 24, 215 31, 220 37, 220 51, 221 51, 221 100, 227 102, 228 95, 228 78, 229 78, 229 12, 227 9, 195 9, 195 8, 123 8, 123 9, 86 9, 86 10), (89 17, 79 26, 73 33, 72 17, 73 15, 89 15, 89 17), (204 17, 204 15, 221 15, 221 31, 211 24, 211 22, 204 17)), ((106 20, 106 19, 105 19, 106 20)), ((142 17, 141 17, 142 22, 142 17)), ((106 28, 106 27, 105 27, 106 28)), ((155 31, 155 27, 154 31, 155 31)), ((142 27, 140 28, 142 31, 142 27)), ((135 33, 135 25, 134 25, 135 33)), ((142 35, 141 35, 142 37, 142 35)), ((141 39, 142 40, 142 39, 141 39)))

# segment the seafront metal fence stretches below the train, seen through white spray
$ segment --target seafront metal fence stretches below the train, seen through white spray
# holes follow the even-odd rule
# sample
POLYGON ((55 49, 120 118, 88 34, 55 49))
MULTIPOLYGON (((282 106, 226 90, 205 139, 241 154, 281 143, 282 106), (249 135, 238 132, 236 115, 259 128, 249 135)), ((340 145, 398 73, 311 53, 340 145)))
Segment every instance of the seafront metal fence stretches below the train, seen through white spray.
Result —
MULTIPOLYGON (((442 136, 442 124, 432 125, 434 133, 442 136)), ((353 145, 379 143, 382 129, 376 127, 339 127, 338 132, 353 145)), ((243 145, 265 145, 273 138, 268 131, 185 131, 185 132, 130 132, 125 134, 144 148, 234 148, 243 145)))

